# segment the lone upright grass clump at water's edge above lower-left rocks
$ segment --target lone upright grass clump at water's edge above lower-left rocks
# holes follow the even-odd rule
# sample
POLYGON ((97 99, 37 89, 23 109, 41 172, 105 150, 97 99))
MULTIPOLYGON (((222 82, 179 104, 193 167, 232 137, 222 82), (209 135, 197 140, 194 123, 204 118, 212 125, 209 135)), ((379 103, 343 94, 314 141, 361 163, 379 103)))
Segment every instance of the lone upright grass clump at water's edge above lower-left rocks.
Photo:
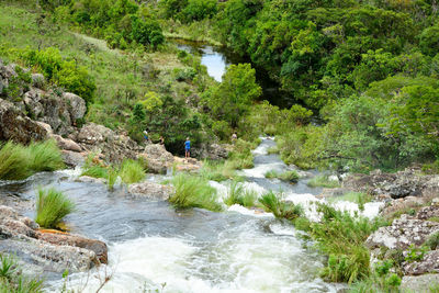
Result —
POLYGON ((56 228, 61 219, 75 211, 75 203, 54 188, 38 189, 35 222, 44 228, 56 228))

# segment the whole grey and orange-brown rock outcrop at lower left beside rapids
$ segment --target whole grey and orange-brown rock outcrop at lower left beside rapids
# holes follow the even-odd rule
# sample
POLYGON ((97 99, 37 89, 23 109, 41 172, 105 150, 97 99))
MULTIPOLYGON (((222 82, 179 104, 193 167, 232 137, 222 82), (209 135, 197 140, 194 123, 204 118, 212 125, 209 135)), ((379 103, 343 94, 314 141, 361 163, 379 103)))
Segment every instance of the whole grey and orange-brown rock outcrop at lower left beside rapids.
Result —
POLYGON ((24 267, 64 272, 87 271, 106 263, 106 245, 81 236, 49 235, 38 230, 31 218, 0 205, 0 251, 16 255, 24 267))

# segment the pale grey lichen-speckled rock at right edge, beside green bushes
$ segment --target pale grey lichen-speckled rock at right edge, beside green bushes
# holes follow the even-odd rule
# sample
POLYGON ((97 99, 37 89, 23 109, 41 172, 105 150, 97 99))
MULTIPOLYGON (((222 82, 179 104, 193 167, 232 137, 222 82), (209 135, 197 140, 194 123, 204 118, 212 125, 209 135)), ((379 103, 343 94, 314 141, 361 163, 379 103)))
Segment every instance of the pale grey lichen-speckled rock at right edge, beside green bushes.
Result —
POLYGON ((403 215, 394 219, 392 226, 381 227, 365 240, 371 248, 382 246, 389 249, 407 249, 410 245, 419 246, 432 233, 439 230, 439 223, 409 218, 403 215))

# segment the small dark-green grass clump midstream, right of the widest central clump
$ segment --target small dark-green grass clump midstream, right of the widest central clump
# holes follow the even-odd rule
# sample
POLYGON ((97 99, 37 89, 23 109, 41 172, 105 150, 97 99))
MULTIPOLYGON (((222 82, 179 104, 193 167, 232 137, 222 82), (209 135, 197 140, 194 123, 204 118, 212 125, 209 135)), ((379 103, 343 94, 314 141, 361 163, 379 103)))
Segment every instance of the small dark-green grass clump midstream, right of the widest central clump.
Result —
POLYGON ((280 194, 269 191, 263 194, 259 202, 264 206, 268 212, 273 213, 275 217, 295 219, 303 215, 303 207, 300 204, 292 202, 284 202, 280 194))

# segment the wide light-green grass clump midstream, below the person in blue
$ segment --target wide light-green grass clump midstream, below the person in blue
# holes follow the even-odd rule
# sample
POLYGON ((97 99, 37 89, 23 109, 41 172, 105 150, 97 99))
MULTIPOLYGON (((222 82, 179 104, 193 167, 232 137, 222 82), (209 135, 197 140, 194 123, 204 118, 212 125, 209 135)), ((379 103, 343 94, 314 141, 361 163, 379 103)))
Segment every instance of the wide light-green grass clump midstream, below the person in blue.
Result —
POLYGON ((217 202, 216 189, 209 181, 187 173, 179 173, 172 179, 176 193, 169 198, 169 202, 176 207, 202 207, 213 212, 223 210, 217 202))

